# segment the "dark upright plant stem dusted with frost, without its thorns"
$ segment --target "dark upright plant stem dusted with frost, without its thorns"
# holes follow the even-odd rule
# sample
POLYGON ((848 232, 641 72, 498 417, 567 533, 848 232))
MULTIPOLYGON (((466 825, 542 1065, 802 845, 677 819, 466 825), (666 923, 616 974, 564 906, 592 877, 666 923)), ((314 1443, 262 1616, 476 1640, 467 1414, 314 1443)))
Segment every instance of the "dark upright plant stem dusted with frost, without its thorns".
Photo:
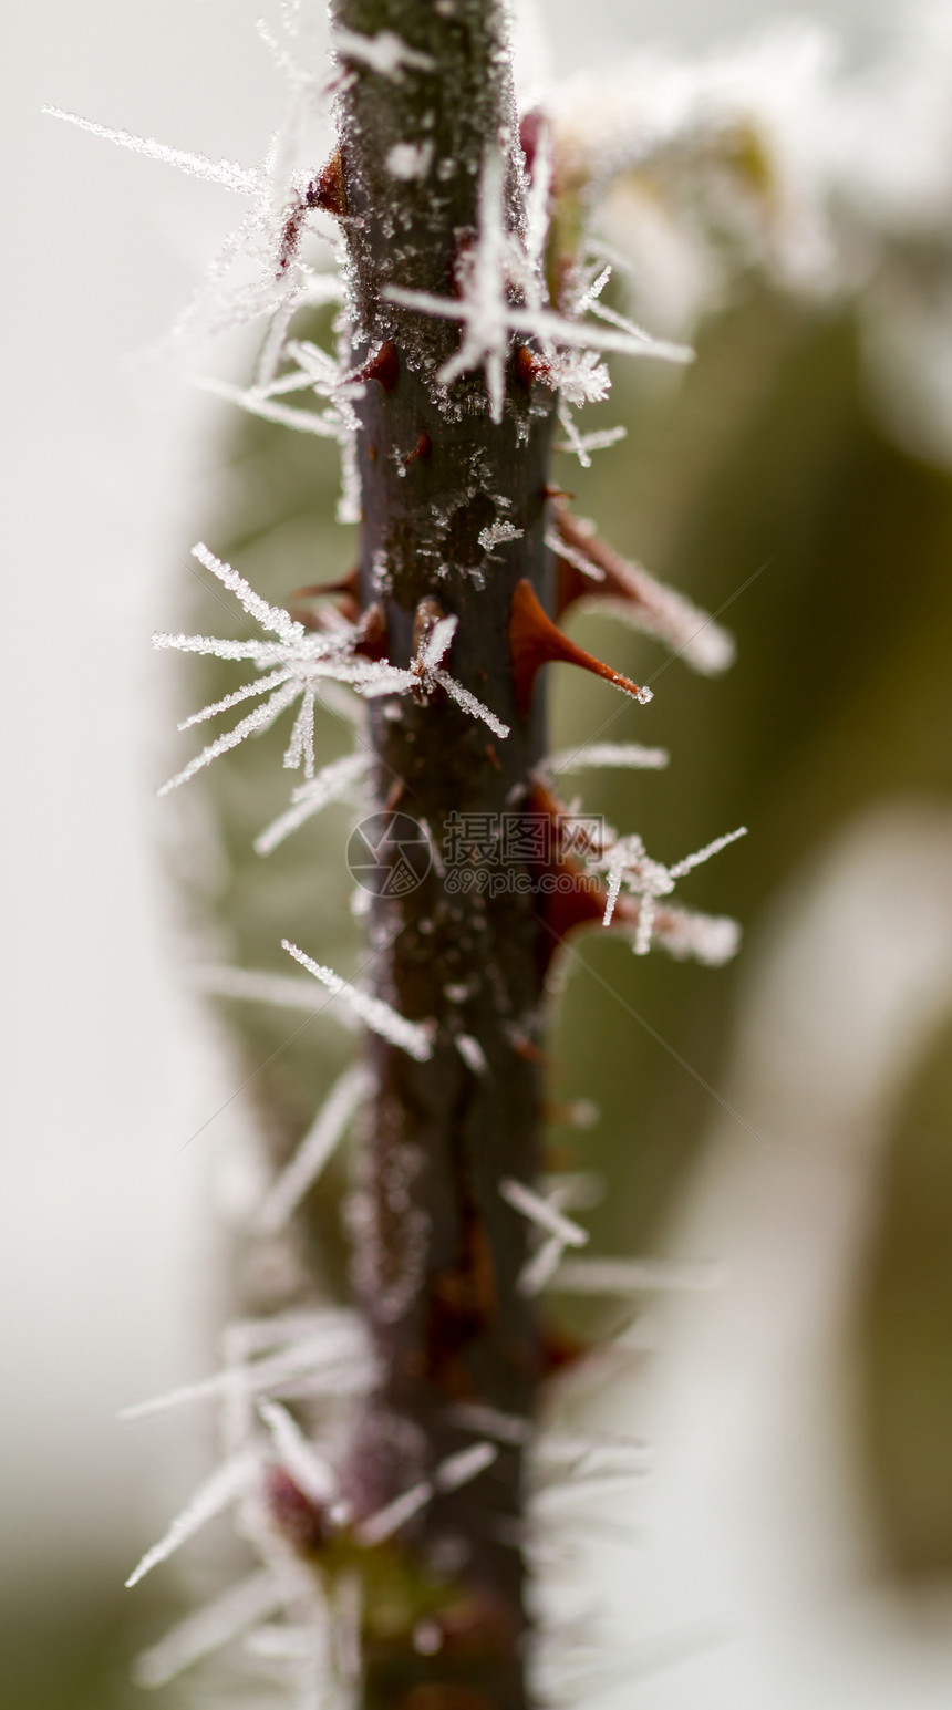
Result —
MULTIPOLYGON (((525 802, 544 752, 542 687, 526 715, 504 638, 521 580, 549 610, 554 604, 545 484, 555 397, 513 376, 518 339, 504 274, 525 181, 511 147, 502 9, 496 0, 414 9, 381 0, 373 48, 354 43, 366 34, 359 0, 333 0, 332 15, 349 72, 340 157, 352 373, 367 364, 373 373, 381 349, 395 354, 386 386, 371 378, 354 397, 359 585, 364 610, 383 610, 391 665, 367 699, 379 761, 374 805, 391 804, 395 780, 405 780, 400 811, 443 852, 451 816, 502 816, 513 792, 525 802), (388 32, 432 70, 397 56, 388 32), (408 159, 400 147, 420 137, 432 142, 432 168, 422 169, 427 152, 426 161, 414 154, 419 176, 388 171, 388 157, 408 159), (465 260, 461 233, 473 233, 465 260), (419 313, 415 298, 395 301, 391 287, 443 298, 458 263, 461 328, 443 313, 419 313), (414 448, 426 453, 408 457, 414 448), (473 598, 467 566, 479 564, 473 598), (398 716, 390 689, 402 696, 398 716)), ((537 243, 542 219, 537 200, 537 243)), ((593 323, 593 332, 608 328, 593 323)), ((509 1635, 463 1676, 467 1705, 526 1710, 525 1561, 504 1541, 523 1525, 525 1438, 492 1445, 489 1464, 456 1409, 470 1395, 491 1416, 532 1428, 542 1358, 520 1276, 533 1228, 499 1183, 532 1183, 538 1168, 540 1070, 525 1043, 540 1040, 549 937, 532 896, 453 891, 441 865, 407 894, 385 889, 371 905, 371 940, 391 944, 374 961, 374 997, 407 1026, 432 1023, 432 1035, 426 1060, 385 1033, 369 1041, 376 1096, 359 1183, 376 1233, 357 1250, 356 1284, 381 1377, 347 1483, 362 1493, 362 1536, 367 1527, 379 1539, 398 1534, 424 1563, 448 1534, 465 1539, 460 1595, 504 1609, 509 1635), (393 1421, 386 1433, 381 1418, 393 1421), (403 1440, 417 1445, 410 1459, 403 1440), (479 1471, 451 1479, 453 1457, 470 1452, 461 1467, 479 1471)), ((446 1669, 439 1650, 417 1650, 410 1636, 388 1655, 371 1652, 361 1707, 391 1710, 415 1701, 414 1689, 420 1703, 450 1701, 458 1688, 446 1686, 446 1669)))

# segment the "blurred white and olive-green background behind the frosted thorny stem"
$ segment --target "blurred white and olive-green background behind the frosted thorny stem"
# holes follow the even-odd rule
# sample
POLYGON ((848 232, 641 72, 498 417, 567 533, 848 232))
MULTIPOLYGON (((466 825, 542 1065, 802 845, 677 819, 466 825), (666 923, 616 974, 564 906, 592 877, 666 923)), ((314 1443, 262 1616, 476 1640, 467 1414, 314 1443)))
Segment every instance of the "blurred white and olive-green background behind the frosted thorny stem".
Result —
MULTIPOLYGON (((133 1703, 130 1657, 227 1553, 222 1529, 185 1589, 164 1570, 121 1592, 212 1433, 115 1416, 214 1366, 255 1135, 294 1142, 342 1035, 314 1024, 258 1072, 294 1017, 212 1012, 188 970, 280 970, 287 934, 349 971, 359 942, 345 809, 268 862, 250 850, 285 802, 280 734, 174 805, 152 793, 174 718, 212 677, 232 686, 149 645, 227 633, 188 547, 207 539, 277 600, 345 569, 333 448, 190 383, 244 383, 260 327, 152 351, 234 224, 227 192, 39 116, 260 161, 284 97, 260 10, 9 9, 0 1672, 17 1710, 133 1703)), ((627 1660, 581 1700, 605 1686, 619 1710, 952 1696, 952 7, 841 0, 819 22, 766 48, 788 26, 754 0, 598 0, 585 24, 547 0, 521 32, 525 89, 545 87, 542 38, 573 79, 554 97, 567 135, 627 109, 670 125, 600 219, 632 270, 610 301, 697 349, 677 376, 617 361, 581 426, 627 438, 557 479, 622 552, 725 607, 738 643, 704 681, 578 619, 656 693, 641 710, 559 674, 555 742, 670 749, 667 771, 579 780, 586 811, 661 860, 750 833, 682 887, 742 922, 730 968, 590 935, 554 1028, 555 1096, 600 1110, 554 1134, 608 1183, 593 1250, 721 1267, 716 1289, 638 1301, 629 1375, 586 1402, 656 1457, 629 1534, 591 1524, 590 1601, 627 1660)), ((333 720, 320 742, 345 751, 333 720)), ((313 1204, 328 1288, 342 1183, 335 1166, 313 1204)))

